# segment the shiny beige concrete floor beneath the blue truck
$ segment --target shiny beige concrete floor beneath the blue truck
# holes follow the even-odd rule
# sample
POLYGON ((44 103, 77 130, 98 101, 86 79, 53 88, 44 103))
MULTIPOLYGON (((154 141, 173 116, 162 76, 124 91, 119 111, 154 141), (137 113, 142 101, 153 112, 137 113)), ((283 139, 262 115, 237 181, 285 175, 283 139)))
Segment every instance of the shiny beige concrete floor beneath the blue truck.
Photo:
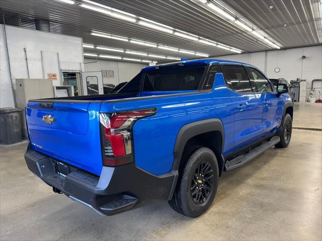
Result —
MULTIPOLYGON (((321 128, 322 104, 296 103, 293 126, 321 128)), ((293 130, 288 148, 224 173, 214 204, 195 219, 167 202, 99 216, 33 176, 26 145, 0 149, 1 240, 322 239, 322 132, 293 130)))

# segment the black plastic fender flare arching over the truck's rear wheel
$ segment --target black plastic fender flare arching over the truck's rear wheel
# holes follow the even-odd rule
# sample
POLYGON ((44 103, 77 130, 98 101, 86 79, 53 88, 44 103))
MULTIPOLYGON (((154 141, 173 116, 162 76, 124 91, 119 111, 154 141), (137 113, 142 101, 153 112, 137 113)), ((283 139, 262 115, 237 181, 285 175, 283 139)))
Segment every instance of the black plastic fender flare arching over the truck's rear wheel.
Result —
MULTIPOLYGON (((173 193, 175 191, 177 181, 178 181, 178 176, 179 176, 179 166, 181 162, 181 157, 184 151, 184 147, 186 143, 193 137, 204 134, 207 132, 213 132, 213 131, 218 131, 221 134, 221 153, 220 157, 218 158, 218 162, 222 162, 222 167, 224 166, 224 158, 222 156, 223 152, 223 146, 224 146, 224 128, 222 125, 222 122, 218 118, 212 118, 212 119, 205 119, 203 121, 198 121, 198 122, 193 122, 189 123, 185 126, 183 126, 178 135, 177 135, 177 140, 176 144, 174 147, 174 163, 172 165, 172 173, 174 174, 174 181, 169 193, 169 198, 168 200, 172 199, 173 193)), ((219 170, 219 172, 222 172, 222 170, 219 170)))

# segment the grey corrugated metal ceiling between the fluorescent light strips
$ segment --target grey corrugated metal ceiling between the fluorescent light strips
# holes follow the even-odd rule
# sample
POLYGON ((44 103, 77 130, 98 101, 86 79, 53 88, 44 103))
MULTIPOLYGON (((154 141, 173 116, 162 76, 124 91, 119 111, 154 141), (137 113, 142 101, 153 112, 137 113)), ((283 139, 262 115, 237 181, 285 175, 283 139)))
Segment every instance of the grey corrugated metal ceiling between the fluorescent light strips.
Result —
MULTIPOLYGON (((241 49, 243 52, 272 49, 229 21, 219 18, 197 0, 94 1, 200 37, 209 38, 241 49)), ((318 0, 222 0, 220 4, 233 11, 237 17, 243 18, 254 24, 259 30, 263 30, 280 43, 282 48, 317 45, 322 41, 321 4, 318 0), (273 7, 270 8, 270 6, 273 7)), ((145 28, 135 23, 58 1, 2 0, 0 7, 5 13, 5 23, 8 25, 35 29, 35 18, 49 19, 51 32, 82 37, 84 43, 191 58, 191 55, 187 54, 167 52, 89 34, 92 30, 97 30, 207 53, 210 56, 231 54, 230 51, 189 41, 172 34, 145 28)), ((2 18, 3 16, 1 16, 1 22, 3 22, 2 18)), ((158 60, 158 62, 162 61, 158 60)))

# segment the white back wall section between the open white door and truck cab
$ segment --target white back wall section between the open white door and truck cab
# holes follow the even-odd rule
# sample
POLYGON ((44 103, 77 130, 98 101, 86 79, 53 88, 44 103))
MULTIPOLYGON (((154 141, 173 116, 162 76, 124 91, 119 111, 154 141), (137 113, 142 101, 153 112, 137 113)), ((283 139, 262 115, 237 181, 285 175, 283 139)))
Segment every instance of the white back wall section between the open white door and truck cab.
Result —
POLYGON ((89 59, 84 60, 85 71, 102 71, 112 70, 114 71, 114 78, 103 77, 103 83, 105 84, 119 84, 124 81, 131 80, 140 70, 147 66, 146 64, 119 62, 111 60, 89 59))

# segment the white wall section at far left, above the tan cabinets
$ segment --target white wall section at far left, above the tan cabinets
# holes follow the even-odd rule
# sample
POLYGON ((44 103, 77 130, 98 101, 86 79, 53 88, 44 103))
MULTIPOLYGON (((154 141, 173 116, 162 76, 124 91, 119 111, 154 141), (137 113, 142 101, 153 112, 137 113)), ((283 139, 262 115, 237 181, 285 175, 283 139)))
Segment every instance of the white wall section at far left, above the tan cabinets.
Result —
POLYGON ((56 73, 53 85, 61 85, 60 70, 84 69, 82 38, 12 26, 6 26, 6 33, 13 80, 9 74, 4 25, 0 25, 0 107, 15 106, 11 81, 16 89, 15 79, 28 78, 28 70, 29 78, 47 78, 47 73, 56 73))

